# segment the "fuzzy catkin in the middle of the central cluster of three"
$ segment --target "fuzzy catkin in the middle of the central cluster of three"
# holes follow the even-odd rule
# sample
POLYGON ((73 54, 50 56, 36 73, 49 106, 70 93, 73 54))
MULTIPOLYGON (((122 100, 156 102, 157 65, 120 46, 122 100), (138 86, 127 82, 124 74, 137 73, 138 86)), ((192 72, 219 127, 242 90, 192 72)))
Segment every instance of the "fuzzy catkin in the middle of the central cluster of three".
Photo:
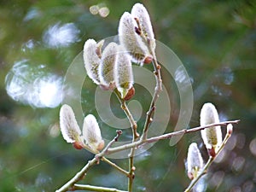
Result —
POLYGON ((113 68, 116 61, 118 44, 110 43, 102 52, 102 61, 99 66, 99 78, 102 85, 113 84, 113 68))

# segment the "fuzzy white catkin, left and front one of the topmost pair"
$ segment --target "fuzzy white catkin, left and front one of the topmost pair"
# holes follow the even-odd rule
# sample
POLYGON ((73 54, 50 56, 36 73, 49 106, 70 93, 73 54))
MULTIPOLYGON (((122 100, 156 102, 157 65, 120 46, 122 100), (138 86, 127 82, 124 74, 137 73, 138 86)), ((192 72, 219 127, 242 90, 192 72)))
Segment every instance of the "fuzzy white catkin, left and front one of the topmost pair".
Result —
POLYGON ((135 32, 136 27, 134 17, 125 12, 119 20, 119 42, 132 56, 132 61, 143 65, 145 57, 150 54, 142 37, 135 32))

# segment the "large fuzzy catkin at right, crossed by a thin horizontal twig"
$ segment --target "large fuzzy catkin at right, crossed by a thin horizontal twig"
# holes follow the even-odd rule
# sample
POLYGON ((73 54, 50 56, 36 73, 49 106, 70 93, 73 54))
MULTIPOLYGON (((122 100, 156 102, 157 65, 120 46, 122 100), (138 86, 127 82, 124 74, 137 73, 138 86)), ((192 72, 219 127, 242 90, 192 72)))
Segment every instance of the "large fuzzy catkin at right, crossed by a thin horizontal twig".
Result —
MULTIPOLYGON (((219 123, 218 112, 212 103, 205 103, 201 108, 200 123, 201 126, 219 123)), ((208 150, 213 148, 215 152, 218 151, 222 143, 222 132, 219 125, 201 130, 201 137, 208 150)))

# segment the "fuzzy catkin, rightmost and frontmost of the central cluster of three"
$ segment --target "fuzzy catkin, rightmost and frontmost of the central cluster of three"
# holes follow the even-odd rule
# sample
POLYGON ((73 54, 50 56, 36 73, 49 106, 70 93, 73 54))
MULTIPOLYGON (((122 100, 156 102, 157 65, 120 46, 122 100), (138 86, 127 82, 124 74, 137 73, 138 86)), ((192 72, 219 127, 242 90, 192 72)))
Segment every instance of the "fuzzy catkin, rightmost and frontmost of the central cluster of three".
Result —
POLYGON ((124 99, 129 90, 131 90, 133 73, 130 57, 125 53, 121 46, 119 46, 119 54, 117 55, 114 67, 114 82, 117 90, 119 90, 119 93, 121 94, 121 98, 124 99))

